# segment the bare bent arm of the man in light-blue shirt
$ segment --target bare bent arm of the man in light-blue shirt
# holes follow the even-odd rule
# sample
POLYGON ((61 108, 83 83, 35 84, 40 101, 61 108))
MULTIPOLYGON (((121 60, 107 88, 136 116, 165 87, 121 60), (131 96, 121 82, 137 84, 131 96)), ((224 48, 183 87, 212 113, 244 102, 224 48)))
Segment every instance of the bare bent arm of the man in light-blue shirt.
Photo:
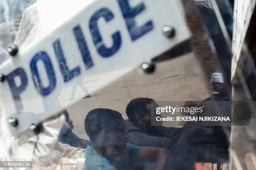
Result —
POLYGON ((144 146, 144 147, 141 147, 141 153, 139 155, 139 158, 147 159, 147 158, 156 157, 155 170, 163 170, 165 161, 169 153, 170 151, 167 149, 144 146))

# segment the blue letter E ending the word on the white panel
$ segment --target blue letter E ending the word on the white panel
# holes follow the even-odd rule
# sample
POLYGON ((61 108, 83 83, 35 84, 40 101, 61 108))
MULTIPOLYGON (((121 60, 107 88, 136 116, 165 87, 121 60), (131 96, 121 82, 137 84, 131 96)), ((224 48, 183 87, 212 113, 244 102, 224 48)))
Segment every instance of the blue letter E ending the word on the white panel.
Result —
POLYGON ((125 19, 125 23, 130 33, 131 39, 135 41, 142 35, 153 30, 154 25, 152 21, 149 20, 143 26, 138 27, 136 25, 135 17, 139 15, 143 10, 145 10, 145 5, 143 4, 143 2, 141 2, 136 7, 131 7, 128 1, 129 0, 118 0, 118 3, 123 13, 123 18, 125 19))

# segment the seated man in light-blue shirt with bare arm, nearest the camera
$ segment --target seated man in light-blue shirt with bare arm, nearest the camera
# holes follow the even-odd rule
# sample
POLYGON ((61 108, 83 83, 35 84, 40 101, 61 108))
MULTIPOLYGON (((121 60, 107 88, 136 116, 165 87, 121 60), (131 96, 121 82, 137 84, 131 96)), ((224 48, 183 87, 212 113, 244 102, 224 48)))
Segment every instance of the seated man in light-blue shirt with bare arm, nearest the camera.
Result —
POLYGON ((85 151, 85 170, 134 170, 136 162, 156 158, 156 170, 164 167, 169 150, 127 143, 122 115, 110 109, 91 110, 84 129, 90 138, 85 151))

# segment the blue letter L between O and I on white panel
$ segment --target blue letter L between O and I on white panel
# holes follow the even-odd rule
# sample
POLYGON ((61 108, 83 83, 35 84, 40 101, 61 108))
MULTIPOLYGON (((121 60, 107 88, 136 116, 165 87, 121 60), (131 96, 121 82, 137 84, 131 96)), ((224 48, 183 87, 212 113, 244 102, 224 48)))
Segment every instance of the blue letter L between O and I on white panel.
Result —
POLYGON ((55 56, 57 58, 57 61, 59 62, 59 68, 62 73, 63 81, 69 82, 74 78, 74 76, 77 76, 81 73, 80 67, 75 67, 74 69, 69 70, 59 39, 53 43, 53 46, 55 56))

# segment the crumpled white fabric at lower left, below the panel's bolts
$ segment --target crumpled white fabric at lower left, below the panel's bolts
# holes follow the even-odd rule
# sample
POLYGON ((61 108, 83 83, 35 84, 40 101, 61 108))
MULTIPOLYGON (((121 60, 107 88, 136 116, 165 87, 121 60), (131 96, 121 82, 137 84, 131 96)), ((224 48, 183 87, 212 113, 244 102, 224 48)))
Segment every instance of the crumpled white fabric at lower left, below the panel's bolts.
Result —
MULTIPOLYGON (((65 118, 62 116, 45 121, 43 123, 44 132, 38 135, 33 135, 30 131, 22 133, 11 143, 13 154, 9 153, 10 160, 32 161, 32 167, 36 170, 54 169, 62 157, 69 157, 78 150, 83 150, 58 142, 59 129, 64 120, 65 118)), ((9 139, 6 141, 10 140, 10 136, 8 137, 9 139)), ((1 148, 4 144, 1 143, 1 148)), ((1 161, 7 160, 6 151, 8 150, 1 150, 1 161)))

